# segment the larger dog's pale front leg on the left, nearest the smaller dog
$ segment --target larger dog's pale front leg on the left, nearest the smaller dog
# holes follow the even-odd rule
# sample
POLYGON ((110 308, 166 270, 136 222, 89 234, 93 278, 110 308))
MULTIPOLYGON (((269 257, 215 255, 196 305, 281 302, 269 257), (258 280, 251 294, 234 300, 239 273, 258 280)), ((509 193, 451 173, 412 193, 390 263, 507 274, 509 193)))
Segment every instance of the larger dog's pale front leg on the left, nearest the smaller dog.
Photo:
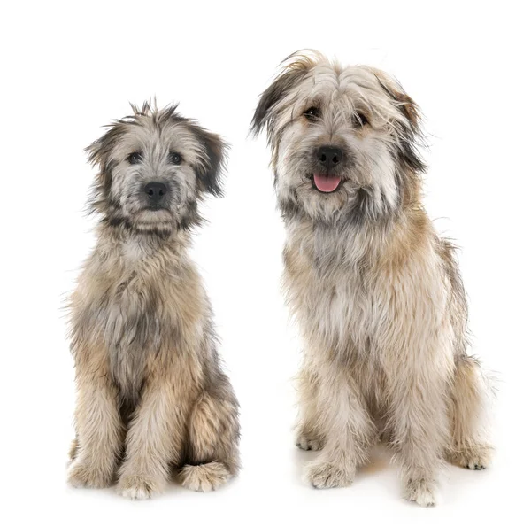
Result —
POLYGON ((319 489, 347 486, 365 464, 376 440, 376 427, 358 385, 344 364, 319 366, 319 429, 326 435, 323 451, 307 469, 319 489))

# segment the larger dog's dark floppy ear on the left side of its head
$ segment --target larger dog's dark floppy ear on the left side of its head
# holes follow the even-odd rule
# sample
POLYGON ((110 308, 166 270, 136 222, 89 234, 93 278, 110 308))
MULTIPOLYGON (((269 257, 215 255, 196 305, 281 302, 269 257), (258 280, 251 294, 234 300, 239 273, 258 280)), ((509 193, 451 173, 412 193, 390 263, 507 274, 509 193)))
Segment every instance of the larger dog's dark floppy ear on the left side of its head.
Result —
POLYGON ((258 101, 257 109, 250 123, 250 133, 253 136, 258 136, 265 126, 267 126, 269 131, 271 130, 274 120, 273 106, 277 105, 290 89, 304 79, 311 66, 310 58, 300 57, 289 66, 286 66, 281 74, 274 79, 271 86, 266 89, 258 101))

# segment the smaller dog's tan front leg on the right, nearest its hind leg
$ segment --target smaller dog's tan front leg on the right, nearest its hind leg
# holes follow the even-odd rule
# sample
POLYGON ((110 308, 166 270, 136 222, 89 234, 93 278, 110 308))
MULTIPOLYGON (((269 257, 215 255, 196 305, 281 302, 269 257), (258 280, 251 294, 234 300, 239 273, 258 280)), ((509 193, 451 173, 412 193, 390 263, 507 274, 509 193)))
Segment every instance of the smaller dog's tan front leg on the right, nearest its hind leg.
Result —
POLYGON ((142 392, 127 431, 126 456, 119 471, 118 492, 126 498, 146 500, 162 492, 171 465, 180 461, 186 422, 183 399, 187 394, 179 396, 177 382, 177 378, 157 377, 142 392))

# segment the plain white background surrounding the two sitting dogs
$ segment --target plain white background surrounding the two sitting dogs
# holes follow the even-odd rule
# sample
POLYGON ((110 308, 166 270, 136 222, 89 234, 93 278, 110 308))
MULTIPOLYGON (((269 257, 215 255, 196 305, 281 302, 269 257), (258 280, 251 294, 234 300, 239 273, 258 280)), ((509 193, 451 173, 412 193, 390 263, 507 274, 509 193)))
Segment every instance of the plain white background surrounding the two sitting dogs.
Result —
MULTIPOLYGON (((480 524, 527 506, 529 52, 524 2, 19 2, 0 13, 4 525, 480 524), (401 500, 386 453, 348 489, 302 481, 291 378, 300 345, 280 294, 283 229, 269 153, 247 131, 282 58, 315 48, 380 66, 426 116, 427 211, 462 247, 474 351, 499 378, 494 466, 449 468, 440 504, 401 500), (61 312, 94 244, 82 149, 156 95, 232 144, 226 197, 194 254, 242 404, 241 475, 212 494, 129 502, 65 484, 73 361, 61 312)), ((525 517, 525 516, 524 516, 525 517)))

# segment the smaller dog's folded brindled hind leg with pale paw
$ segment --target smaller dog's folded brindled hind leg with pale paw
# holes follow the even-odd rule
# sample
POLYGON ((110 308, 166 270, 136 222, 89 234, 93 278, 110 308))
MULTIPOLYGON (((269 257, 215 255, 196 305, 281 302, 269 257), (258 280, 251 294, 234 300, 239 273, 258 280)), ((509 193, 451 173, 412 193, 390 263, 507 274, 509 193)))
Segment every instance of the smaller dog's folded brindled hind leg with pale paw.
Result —
POLYGON ((187 464, 177 479, 192 491, 213 491, 239 469, 238 404, 227 378, 220 378, 216 391, 205 391, 190 415, 187 464))

